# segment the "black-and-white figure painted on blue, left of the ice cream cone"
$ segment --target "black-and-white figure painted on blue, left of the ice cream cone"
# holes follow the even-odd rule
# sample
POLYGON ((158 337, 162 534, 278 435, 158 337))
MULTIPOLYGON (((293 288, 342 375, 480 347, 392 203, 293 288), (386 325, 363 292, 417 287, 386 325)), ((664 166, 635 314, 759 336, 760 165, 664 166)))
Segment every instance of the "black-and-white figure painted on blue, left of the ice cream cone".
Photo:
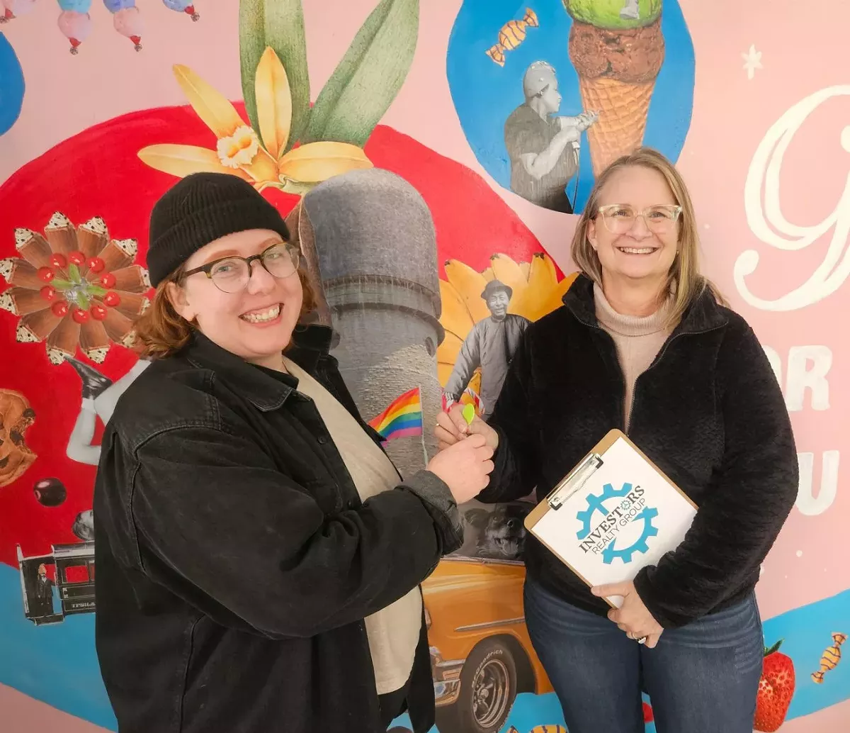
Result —
POLYGON ((538 206, 573 213, 566 188, 579 169, 581 133, 598 114, 557 116, 558 77, 546 61, 535 61, 525 71, 523 93, 525 101, 505 122, 511 190, 538 206))

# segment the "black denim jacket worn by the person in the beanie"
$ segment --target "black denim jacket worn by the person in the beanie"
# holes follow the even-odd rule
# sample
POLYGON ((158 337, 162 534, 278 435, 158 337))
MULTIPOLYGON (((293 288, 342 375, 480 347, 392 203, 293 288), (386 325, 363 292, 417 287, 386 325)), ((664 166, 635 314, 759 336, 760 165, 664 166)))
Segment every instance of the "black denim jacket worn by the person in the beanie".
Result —
MULTIPOLYGON (((289 355, 363 424, 330 336, 299 330, 289 355)), ((121 733, 376 733, 363 619, 462 539, 430 472, 361 504, 297 381, 201 335, 122 395, 94 516, 97 651, 121 733)), ((433 724, 424 625, 410 685, 418 733, 433 724)))

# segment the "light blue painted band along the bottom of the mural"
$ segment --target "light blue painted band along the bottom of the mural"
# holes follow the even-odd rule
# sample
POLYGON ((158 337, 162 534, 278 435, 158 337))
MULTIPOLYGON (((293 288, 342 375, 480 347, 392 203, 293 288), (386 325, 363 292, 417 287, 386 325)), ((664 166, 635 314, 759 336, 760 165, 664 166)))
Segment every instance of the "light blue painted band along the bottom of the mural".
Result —
MULTIPOLYGON (((789 720, 850 698, 850 661, 839 662, 827 672, 823 685, 811 678, 835 632, 850 634, 850 590, 764 622, 765 643, 770 646, 784 639, 779 651, 791 656, 796 669, 789 720)), ((2 563, 0 649, 0 684, 108 730, 118 730, 94 651, 94 615, 34 626, 24 618, 17 569, 2 563)), ((399 719, 396 724, 405 725, 407 720, 399 719)), ((504 730, 513 725, 519 733, 528 733, 542 724, 564 724, 558 698, 553 694, 520 695, 504 730)), ((649 724, 646 730, 655 733, 655 726, 649 724)))

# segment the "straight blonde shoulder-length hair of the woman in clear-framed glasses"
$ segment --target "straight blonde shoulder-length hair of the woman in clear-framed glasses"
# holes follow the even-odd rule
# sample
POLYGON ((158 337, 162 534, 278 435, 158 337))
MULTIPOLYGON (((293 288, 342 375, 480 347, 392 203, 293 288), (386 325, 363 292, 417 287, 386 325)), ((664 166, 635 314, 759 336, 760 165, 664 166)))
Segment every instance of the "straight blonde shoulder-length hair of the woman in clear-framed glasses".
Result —
POLYGON ((632 168, 633 166, 649 168, 663 175, 677 204, 682 207, 678 221, 678 252, 667 274, 666 285, 660 293, 662 298, 666 297, 667 294, 672 294, 672 305, 667 316, 667 325, 675 326, 682 319, 688 306, 706 288, 717 300, 717 303, 727 305, 717 286, 700 274, 700 233, 697 229, 694 204, 691 202, 688 187, 672 162, 652 148, 638 148, 637 151, 617 158, 596 179, 590 197, 587 199, 587 206, 585 206, 579 223, 575 227, 571 247, 573 262, 579 270, 592 281, 598 283, 599 287, 602 287, 602 265, 599 263, 596 250, 593 249, 587 239, 588 225, 598 216, 599 192, 605 184, 623 168, 632 168))

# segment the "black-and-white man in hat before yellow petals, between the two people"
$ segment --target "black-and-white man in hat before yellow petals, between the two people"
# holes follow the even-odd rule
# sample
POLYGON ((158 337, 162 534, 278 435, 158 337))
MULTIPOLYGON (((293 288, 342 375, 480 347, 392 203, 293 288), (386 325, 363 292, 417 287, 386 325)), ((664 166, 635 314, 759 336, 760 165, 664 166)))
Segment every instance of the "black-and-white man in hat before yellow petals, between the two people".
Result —
POLYGON ((481 298, 490 315, 476 323, 464 339, 455 366, 445 384, 446 400, 456 402, 467 389, 477 368, 481 368, 481 419, 486 420, 496 406, 496 399, 507 375, 507 367, 519 346, 519 340, 531 321, 522 315, 508 313, 513 288, 498 280, 484 287, 481 298))

